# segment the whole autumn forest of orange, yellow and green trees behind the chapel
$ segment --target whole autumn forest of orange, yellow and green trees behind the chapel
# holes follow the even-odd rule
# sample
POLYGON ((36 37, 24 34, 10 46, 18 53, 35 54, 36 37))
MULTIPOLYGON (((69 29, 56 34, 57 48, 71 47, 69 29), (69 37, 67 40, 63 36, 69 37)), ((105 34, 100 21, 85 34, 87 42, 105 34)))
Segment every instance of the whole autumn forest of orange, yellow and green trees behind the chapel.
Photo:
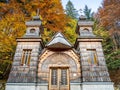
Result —
MULTIPOLYGON (((39 9, 42 37, 47 43, 61 31, 74 44, 78 11, 69 0, 63 9, 61 0, 0 0, 0 90, 4 90, 12 65, 16 38, 25 33, 25 21, 31 20, 39 9)), ((96 13, 86 5, 83 10, 94 21, 94 33, 103 38, 103 50, 116 89, 120 89, 120 0, 103 0, 96 13)))

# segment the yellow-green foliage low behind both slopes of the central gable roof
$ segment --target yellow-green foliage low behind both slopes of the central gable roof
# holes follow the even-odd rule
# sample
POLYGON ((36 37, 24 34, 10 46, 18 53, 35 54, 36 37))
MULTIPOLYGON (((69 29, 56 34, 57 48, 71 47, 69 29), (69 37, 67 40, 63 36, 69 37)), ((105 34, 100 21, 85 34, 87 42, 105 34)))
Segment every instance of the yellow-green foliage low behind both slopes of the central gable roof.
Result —
MULTIPOLYGON (((75 34, 76 25, 77 25, 77 20, 69 18, 69 22, 66 23, 65 30, 60 30, 60 32, 62 32, 72 44, 75 42, 76 37, 77 37, 77 35, 75 34)), ((44 29, 42 38, 45 44, 51 40, 51 38, 54 36, 55 33, 57 33, 57 31, 51 31, 48 29, 44 29)))

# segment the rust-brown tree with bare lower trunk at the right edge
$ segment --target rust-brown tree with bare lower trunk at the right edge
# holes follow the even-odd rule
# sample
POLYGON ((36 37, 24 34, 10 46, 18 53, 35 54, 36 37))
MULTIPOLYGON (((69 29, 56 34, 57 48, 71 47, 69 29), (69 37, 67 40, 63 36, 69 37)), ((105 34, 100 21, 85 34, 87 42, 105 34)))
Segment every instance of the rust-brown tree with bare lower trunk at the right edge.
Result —
POLYGON ((120 48, 120 0, 104 0, 99 8, 100 26, 109 31, 114 41, 114 48, 120 48))

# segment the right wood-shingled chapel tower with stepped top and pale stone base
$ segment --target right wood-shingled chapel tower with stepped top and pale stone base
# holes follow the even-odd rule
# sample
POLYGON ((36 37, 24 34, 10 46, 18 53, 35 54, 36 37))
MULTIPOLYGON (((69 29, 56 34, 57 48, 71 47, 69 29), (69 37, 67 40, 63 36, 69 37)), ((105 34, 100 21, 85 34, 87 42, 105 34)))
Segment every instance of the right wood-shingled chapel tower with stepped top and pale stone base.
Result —
POLYGON ((81 60, 82 88, 83 90, 113 90, 102 49, 102 38, 93 34, 93 24, 93 21, 81 15, 76 29, 79 37, 75 48, 81 60))

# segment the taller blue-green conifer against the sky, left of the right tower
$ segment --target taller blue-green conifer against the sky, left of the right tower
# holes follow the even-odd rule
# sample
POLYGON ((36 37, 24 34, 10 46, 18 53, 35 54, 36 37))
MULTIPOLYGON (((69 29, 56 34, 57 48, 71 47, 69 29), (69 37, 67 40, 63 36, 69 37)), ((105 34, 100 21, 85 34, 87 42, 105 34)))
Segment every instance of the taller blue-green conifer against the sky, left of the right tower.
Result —
POLYGON ((74 5, 72 4, 72 2, 70 0, 66 4, 66 14, 67 14, 67 16, 69 16, 73 19, 77 19, 79 16, 77 10, 74 8, 74 5))

